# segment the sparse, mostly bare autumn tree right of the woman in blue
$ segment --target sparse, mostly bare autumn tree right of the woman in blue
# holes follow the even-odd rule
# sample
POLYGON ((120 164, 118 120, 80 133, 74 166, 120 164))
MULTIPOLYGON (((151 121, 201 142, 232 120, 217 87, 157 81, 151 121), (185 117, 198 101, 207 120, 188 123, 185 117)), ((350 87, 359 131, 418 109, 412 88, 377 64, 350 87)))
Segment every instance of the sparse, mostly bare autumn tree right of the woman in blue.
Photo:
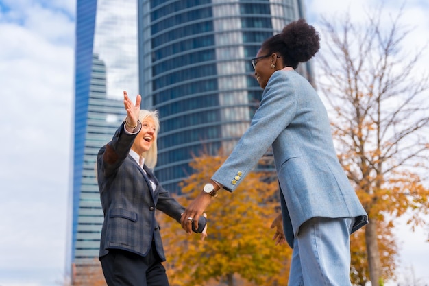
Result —
POLYGON ((323 19, 317 76, 339 160, 369 215, 367 270, 352 275, 364 285, 369 273, 375 286, 393 276, 388 263, 395 251, 388 258, 383 250, 395 239, 383 237, 395 217, 412 213, 414 229, 428 215, 428 73, 417 69, 426 50, 406 42, 413 27, 400 25, 402 8, 395 16, 384 16, 382 7, 367 15, 362 25, 350 14, 323 19), (389 26, 381 19, 390 19, 389 26))

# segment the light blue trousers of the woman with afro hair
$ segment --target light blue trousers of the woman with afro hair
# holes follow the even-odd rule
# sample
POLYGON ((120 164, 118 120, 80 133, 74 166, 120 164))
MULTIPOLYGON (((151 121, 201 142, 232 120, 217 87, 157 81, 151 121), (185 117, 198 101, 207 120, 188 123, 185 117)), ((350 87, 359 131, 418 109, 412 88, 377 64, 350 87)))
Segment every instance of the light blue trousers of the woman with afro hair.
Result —
POLYGON ((354 218, 315 217, 293 241, 288 286, 351 286, 350 232, 354 218))

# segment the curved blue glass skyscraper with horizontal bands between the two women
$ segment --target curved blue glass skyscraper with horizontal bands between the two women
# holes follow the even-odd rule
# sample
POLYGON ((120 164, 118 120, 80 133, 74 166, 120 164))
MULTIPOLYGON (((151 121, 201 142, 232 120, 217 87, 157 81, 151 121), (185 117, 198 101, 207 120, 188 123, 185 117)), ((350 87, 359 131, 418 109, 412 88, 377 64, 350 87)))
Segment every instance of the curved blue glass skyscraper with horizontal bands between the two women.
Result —
MULTIPOLYGON (((201 151, 229 153, 258 108, 250 59, 304 16, 299 0, 138 0, 140 94, 158 110, 158 179, 169 191, 201 151)), ((306 72, 306 67, 300 71, 306 72)))

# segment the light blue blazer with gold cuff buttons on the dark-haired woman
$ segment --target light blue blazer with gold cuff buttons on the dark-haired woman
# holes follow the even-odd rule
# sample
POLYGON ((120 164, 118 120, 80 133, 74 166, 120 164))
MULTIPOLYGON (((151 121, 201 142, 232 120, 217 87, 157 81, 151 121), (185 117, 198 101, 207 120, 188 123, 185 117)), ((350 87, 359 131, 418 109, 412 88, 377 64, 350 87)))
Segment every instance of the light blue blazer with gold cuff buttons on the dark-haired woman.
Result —
POLYGON ((332 142, 325 106, 296 71, 275 71, 249 129, 212 180, 234 191, 272 146, 289 246, 312 217, 355 217, 352 233, 367 224, 332 142))

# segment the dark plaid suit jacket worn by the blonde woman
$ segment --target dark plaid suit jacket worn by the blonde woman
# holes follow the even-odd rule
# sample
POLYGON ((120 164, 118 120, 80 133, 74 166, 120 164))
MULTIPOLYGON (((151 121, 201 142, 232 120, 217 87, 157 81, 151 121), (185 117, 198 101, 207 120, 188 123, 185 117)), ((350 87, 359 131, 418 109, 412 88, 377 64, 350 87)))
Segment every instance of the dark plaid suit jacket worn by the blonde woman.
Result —
MULTIPOLYGON (((184 206, 169 195, 146 166, 147 174, 129 155, 135 137, 127 134, 122 124, 97 156, 97 180, 104 213, 99 257, 112 248, 145 256, 154 240, 156 251, 165 261, 155 210, 180 222, 184 206), (157 182, 155 191, 149 176, 157 182)), ((199 229, 194 231, 201 233, 205 225, 206 219, 201 216, 199 229)))

